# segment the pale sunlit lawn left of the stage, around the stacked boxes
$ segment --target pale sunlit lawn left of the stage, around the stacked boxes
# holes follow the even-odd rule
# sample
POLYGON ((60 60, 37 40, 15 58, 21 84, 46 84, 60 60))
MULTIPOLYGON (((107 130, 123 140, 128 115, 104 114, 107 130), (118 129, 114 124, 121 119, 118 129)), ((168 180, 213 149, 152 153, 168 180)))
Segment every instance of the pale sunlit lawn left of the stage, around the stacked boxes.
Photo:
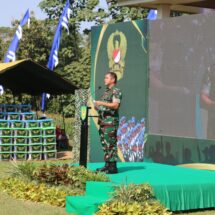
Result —
MULTIPOLYGON (((59 115, 47 114, 48 117, 54 120, 55 125, 60 125, 64 128, 63 119, 59 115)), ((66 132, 69 135, 70 146, 73 145, 73 118, 65 119, 66 132)), ((71 163, 71 160, 63 161, 46 161, 48 163, 71 163)), ((41 165, 44 161, 36 161, 37 165, 41 165)), ((10 162, 0 162, 0 179, 9 176, 9 171, 12 167, 10 162)), ((18 200, 0 192, 0 215, 65 215, 65 209, 60 207, 53 207, 50 205, 35 203, 26 200, 18 200)))

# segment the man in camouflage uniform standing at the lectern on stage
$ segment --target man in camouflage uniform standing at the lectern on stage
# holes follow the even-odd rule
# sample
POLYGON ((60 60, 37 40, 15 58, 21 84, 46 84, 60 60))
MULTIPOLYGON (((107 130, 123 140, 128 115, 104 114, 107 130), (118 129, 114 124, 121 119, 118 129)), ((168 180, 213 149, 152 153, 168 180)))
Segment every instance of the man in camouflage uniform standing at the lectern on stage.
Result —
POLYGON ((113 72, 105 75, 106 90, 100 101, 95 101, 99 113, 99 135, 104 151, 105 166, 97 171, 108 174, 117 173, 117 129, 119 126, 119 107, 121 91, 115 86, 117 76, 113 72))

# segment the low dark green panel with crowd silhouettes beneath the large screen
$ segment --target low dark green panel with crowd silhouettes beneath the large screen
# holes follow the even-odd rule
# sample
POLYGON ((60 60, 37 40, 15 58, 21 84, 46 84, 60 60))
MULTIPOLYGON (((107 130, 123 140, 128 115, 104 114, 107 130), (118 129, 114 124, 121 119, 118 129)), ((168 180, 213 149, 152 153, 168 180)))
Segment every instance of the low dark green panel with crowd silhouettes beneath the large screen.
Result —
POLYGON ((145 159, 164 164, 215 163, 215 141, 149 135, 145 159))

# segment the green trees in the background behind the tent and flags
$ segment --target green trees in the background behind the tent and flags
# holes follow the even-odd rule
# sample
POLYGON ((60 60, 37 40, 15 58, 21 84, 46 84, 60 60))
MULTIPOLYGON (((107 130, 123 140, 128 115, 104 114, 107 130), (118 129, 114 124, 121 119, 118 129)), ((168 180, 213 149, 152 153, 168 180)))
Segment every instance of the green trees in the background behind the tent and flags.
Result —
MULTIPOLYGON (((32 13, 31 26, 23 29, 23 38, 17 51, 17 59, 31 58, 46 66, 50 54, 51 44, 62 14, 66 0, 42 0, 40 8, 48 15, 46 20, 37 20, 32 13)), ((119 7, 116 1, 109 4, 109 10, 98 7, 99 0, 75 1, 71 3, 70 35, 63 30, 59 49, 59 64, 55 72, 73 82, 80 88, 88 89, 90 84, 90 40, 89 35, 80 34, 80 24, 83 21, 93 21, 95 25, 108 22, 140 19, 146 16, 142 8, 119 7), (107 19, 108 18, 108 19, 107 19)), ((0 29, 0 36, 6 35, 4 41, 0 40, 0 59, 6 53, 9 43, 18 26, 19 20, 13 23, 12 29, 0 29), (1 34, 2 33, 2 34, 1 34)), ((89 29, 84 30, 89 34, 89 29)), ((39 101, 39 100, 38 100, 39 101)), ((22 98, 13 98, 10 91, 0 98, 1 103, 30 103, 35 108, 35 100, 31 96, 23 95, 22 98)), ((62 113, 65 117, 73 117, 74 96, 51 96, 47 100, 48 113, 62 113)))

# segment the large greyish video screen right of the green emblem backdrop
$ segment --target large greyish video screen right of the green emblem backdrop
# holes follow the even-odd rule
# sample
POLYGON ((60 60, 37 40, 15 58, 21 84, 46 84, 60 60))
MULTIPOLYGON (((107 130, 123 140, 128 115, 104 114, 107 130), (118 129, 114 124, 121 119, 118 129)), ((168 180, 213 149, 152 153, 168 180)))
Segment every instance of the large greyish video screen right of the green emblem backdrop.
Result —
POLYGON ((215 13, 149 29, 149 132, 215 139, 215 13))

